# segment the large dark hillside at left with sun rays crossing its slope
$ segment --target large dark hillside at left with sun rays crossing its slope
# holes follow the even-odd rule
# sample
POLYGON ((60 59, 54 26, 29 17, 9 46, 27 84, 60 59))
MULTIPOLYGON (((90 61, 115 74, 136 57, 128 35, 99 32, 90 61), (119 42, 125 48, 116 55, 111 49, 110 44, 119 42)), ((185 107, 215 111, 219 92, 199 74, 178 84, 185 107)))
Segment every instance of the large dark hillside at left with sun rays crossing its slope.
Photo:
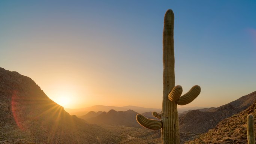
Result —
POLYGON ((76 116, 48 98, 29 77, 0 68, 0 143, 115 144, 119 136, 76 116), (4 142, 5 141, 5 142, 4 142))

